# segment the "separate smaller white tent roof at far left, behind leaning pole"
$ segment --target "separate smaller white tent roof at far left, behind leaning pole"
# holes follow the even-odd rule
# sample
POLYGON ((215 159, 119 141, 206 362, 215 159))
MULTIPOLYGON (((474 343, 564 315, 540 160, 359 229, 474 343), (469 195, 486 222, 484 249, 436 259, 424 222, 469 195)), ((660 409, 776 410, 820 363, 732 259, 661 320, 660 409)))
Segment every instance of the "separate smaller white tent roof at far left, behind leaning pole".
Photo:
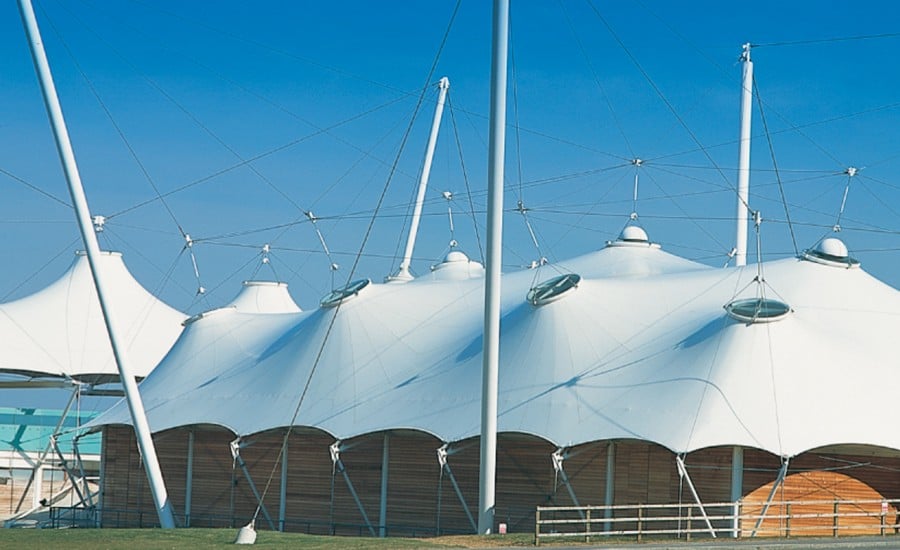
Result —
MULTIPOLYGON (((181 333, 186 315, 145 290, 118 252, 102 252, 100 264, 116 308, 136 377, 144 377, 181 333)), ((0 372, 68 377, 88 382, 118 379, 87 256, 47 288, 0 304, 0 372)))

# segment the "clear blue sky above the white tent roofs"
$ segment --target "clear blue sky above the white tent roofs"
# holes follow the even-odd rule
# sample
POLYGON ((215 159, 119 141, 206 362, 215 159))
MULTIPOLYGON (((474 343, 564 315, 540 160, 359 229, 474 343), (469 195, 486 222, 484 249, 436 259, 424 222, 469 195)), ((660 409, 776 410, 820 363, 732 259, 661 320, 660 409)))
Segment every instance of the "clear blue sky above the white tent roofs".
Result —
MULTIPOLYGON (((480 256, 488 2, 463 0, 449 32, 456 3, 445 0, 35 5, 92 213, 109 217, 101 245, 121 250, 172 306, 222 305, 257 277, 289 282, 302 307, 315 307, 350 277, 385 189, 354 278, 394 271, 434 87, 413 114, 425 83, 441 76, 452 109, 413 270, 447 251, 442 191, 453 192, 452 237, 480 256), (304 211, 319 217, 331 258, 304 211), (196 240, 199 281, 182 232, 196 240)), ((767 139, 755 106, 751 206, 766 220, 764 258, 794 254, 773 154, 801 250, 837 219, 842 172, 855 166, 841 237, 865 269, 900 285, 900 38, 834 40, 896 33, 900 7, 822 5, 513 2, 508 121, 519 130, 507 134, 506 207, 530 209, 540 249, 510 213, 504 269, 614 238, 633 207, 633 158, 645 160, 637 212, 651 238, 724 264, 734 244, 737 58, 749 41, 760 45, 753 59, 769 129, 767 139), (796 44, 806 41, 815 43, 796 44)), ((5 301, 58 277, 80 243, 17 10, 0 10, 5 301)))

